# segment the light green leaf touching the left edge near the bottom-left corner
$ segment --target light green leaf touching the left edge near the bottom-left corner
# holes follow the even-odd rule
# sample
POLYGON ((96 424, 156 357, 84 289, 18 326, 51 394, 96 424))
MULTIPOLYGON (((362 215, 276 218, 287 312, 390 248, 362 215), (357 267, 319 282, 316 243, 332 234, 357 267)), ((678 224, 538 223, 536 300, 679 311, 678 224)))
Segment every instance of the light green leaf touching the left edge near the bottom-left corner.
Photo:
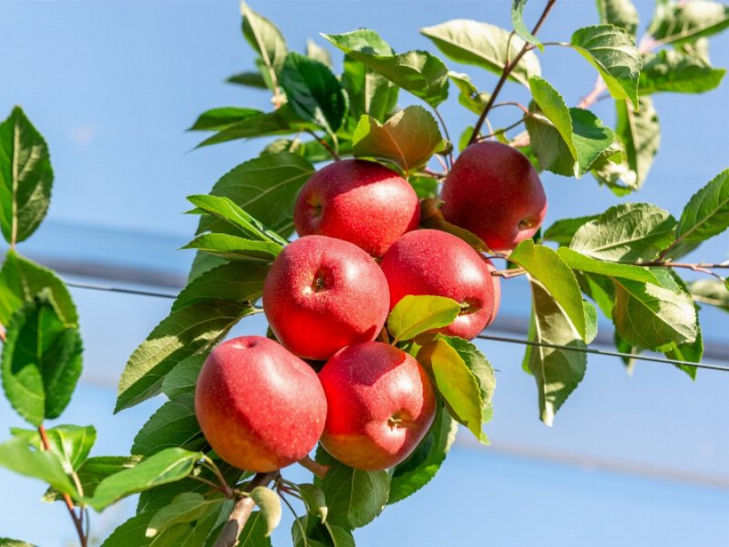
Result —
POLYGON ((36 450, 26 439, 15 438, 0 444, 0 467, 42 480, 54 489, 78 499, 76 487, 63 470, 56 454, 36 450))

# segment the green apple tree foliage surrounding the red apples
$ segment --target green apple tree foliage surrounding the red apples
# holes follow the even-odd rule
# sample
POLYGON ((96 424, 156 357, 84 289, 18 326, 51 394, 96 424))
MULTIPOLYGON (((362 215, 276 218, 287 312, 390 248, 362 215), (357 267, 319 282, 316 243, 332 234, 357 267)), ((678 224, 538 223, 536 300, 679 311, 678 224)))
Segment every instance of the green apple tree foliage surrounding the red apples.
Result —
MULTIPOLYGON (((350 546, 356 528, 433 479, 457 424, 488 443, 483 428, 493 412, 494 370, 472 343, 426 334, 460 311, 456 302, 436 296, 406 297, 386 325, 392 344, 426 368, 441 401, 426 439, 394 469, 354 470, 319 449, 316 462, 309 462, 317 475, 312 483, 294 484, 278 473, 252 477, 221 461, 200 431, 193 396, 205 357, 233 325, 260 311, 255 304, 263 280, 293 233, 293 204, 315 165, 345 156, 402 173, 424 200, 422 225, 453 232, 503 260, 505 277, 528 277, 531 345, 522 366, 535 379, 539 418, 546 424, 586 373, 587 356, 575 350, 593 340, 599 314, 614 325, 621 351, 662 353, 683 362, 678 366, 694 377, 696 368, 687 364, 703 355, 699 304, 729 311, 729 285, 713 271, 726 263, 678 261, 729 227, 729 170, 696 191, 683 212, 624 202, 554 222, 508 255, 490 253, 438 212, 445 172, 433 166, 447 171, 457 150, 480 139, 507 142, 540 171, 590 175, 619 196, 638 191, 660 145, 652 95, 703 93, 724 77, 708 50, 709 38, 729 26, 729 6, 657 0, 639 39, 631 0, 600 0, 598 24, 562 42, 542 43, 539 28, 555 1, 529 3, 544 10, 532 29, 524 21, 526 0, 512 3, 513 29, 467 19, 422 29, 438 55, 396 52, 370 29, 323 34, 328 47, 309 42, 298 53, 272 21, 242 5, 242 34, 252 46, 254 68, 229 81, 269 93, 272 108, 212 108, 190 129, 211 133, 200 146, 268 139, 258 157, 223 175, 210 194, 189 197, 190 213, 200 216, 186 245, 196 251, 189 283, 129 357, 118 384, 117 412, 160 394, 168 399, 139 430, 130 455, 89 457, 93 426, 44 427, 71 399, 83 347, 66 285, 16 249, 46 214, 53 170, 46 141, 14 108, 0 124, 0 229, 10 246, 0 270, 1 371, 5 396, 32 428, 11 430, 11 439, 0 444, 0 465, 45 482, 46 500, 66 503, 82 545, 89 508, 104 511, 139 493, 136 516, 104 547, 221 546, 236 539, 270 545, 281 501, 296 501, 303 511, 293 523, 296 547, 350 546), (539 57, 553 47, 572 49, 598 75, 580 105, 568 105, 542 74, 539 57), (344 54, 338 67, 333 50, 344 54), (487 70, 496 87, 478 89, 448 63, 487 70), (487 124, 486 133, 484 121, 507 81, 529 91, 529 105, 514 124, 487 124), (407 94, 422 104, 399 108, 398 98, 407 94), (457 140, 437 110, 449 96, 475 116, 457 140), (590 111, 599 98, 614 104, 614 127, 590 111), (522 125, 522 132, 508 136, 522 125), (677 274, 682 268, 714 277, 688 284, 677 274), (239 529, 231 513, 243 502, 256 510, 239 529)), ((0 539, 0 545, 27 543, 0 539)))

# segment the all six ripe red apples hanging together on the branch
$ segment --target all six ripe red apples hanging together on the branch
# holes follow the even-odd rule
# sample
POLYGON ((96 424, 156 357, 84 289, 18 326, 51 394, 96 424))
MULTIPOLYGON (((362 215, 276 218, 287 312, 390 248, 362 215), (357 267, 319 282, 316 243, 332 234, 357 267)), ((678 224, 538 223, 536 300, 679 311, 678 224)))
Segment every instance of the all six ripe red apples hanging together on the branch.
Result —
MULTIPOLYGON (((547 207, 529 160, 498 142, 464 150, 441 199, 447 222, 502 253, 537 232, 547 207)), ((346 465, 383 470, 416 449, 436 393, 413 356, 383 341, 387 315, 408 294, 446 296, 462 312, 439 332, 472 339, 494 320, 500 297, 487 259, 419 221, 412 186, 379 163, 335 161, 307 181, 294 210, 301 237, 263 285, 278 342, 231 339, 200 372, 197 416, 222 459, 279 470, 320 442, 346 465), (323 361, 317 374, 312 364, 323 361)))

